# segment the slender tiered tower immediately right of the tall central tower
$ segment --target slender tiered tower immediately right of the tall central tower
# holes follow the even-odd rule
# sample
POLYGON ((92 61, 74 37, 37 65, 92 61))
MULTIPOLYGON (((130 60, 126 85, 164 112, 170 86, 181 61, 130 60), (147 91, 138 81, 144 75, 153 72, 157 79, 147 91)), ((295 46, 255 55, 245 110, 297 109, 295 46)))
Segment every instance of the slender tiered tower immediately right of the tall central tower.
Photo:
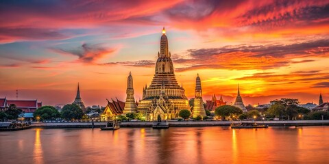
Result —
POLYGON ((195 99, 193 107, 193 118, 200 115, 202 117, 206 116, 206 111, 204 110, 204 101, 202 100, 202 87, 199 74, 197 74, 196 85, 195 85, 195 99))

